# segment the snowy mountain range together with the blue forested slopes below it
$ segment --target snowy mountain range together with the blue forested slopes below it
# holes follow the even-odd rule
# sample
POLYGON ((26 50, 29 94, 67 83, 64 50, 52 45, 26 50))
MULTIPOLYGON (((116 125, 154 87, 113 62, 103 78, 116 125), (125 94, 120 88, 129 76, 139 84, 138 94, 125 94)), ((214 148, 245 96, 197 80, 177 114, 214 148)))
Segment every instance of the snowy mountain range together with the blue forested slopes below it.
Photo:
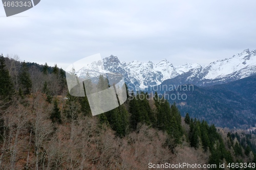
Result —
POLYGON ((205 119, 219 127, 256 126, 255 50, 247 49, 205 66, 196 63, 174 66, 166 59, 158 63, 125 63, 111 55, 101 62, 83 67, 77 75, 90 72, 90 75, 97 77, 99 72, 104 71, 123 75, 130 90, 175 94, 176 99, 166 99, 177 103, 182 116, 188 112, 191 117, 205 119), (182 88, 188 84, 193 85, 193 90, 184 91, 182 88), (164 86, 173 90, 163 89, 164 86), (177 93, 185 94, 183 97, 186 100, 179 100, 177 93))

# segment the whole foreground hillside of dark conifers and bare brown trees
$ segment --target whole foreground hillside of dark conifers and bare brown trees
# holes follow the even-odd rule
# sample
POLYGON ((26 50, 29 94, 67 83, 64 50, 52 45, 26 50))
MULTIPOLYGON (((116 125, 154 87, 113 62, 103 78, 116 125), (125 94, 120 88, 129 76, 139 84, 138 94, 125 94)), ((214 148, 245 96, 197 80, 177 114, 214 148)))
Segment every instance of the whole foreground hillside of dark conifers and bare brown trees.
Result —
POLYGON ((150 169, 150 163, 255 169, 254 133, 182 117, 157 93, 126 94, 123 105, 92 116, 87 97, 69 94, 66 73, 56 64, 1 55, 0 169, 150 169))

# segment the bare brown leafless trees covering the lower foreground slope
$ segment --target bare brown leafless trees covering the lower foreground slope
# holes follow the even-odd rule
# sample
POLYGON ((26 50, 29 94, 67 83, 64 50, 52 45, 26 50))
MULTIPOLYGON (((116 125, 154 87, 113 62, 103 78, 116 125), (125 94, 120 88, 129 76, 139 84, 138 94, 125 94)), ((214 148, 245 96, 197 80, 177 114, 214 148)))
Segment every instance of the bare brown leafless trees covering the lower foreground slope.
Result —
MULTIPOLYGON (((147 169, 148 163, 204 163, 206 155, 189 147, 166 147, 169 138, 162 131, 138 124, 123 138, 97 117, 79 115, 63 124, 53 124, 53 104, 45 95, 33 93, 9 107, 0 144, 0 169, 147 169)), ((183 144, 187 145, 187 144, 183 144)))

